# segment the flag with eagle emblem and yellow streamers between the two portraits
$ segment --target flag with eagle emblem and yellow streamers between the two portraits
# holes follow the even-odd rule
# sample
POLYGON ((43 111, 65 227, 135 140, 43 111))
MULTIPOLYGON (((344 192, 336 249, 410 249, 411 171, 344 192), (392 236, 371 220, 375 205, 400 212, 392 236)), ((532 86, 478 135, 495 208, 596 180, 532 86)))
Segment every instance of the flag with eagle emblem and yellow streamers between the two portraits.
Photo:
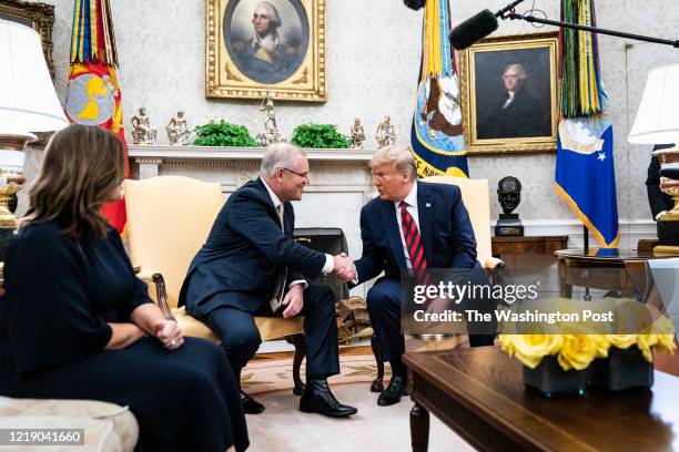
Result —
POLYGON ((411 127, 420 176, 468 177, 459 83, 450 48, 448 0, 427 0, 422 28, 417 106, 411 127))

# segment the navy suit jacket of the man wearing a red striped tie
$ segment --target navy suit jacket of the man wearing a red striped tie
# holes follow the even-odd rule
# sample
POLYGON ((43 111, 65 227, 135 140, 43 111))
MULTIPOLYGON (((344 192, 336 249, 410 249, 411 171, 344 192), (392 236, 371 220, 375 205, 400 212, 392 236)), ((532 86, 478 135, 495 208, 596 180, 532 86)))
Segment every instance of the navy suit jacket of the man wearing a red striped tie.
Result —
MULTIPOLYGON (((396 207, 378 197, 361 210, 363 256, 356 260, 358 284, 385 271, 401 278, 405 254, 396 222, 396 207)), ((459 188, 417 182, 417 214, 428 268, 479 268, 476 239, 459 188)))

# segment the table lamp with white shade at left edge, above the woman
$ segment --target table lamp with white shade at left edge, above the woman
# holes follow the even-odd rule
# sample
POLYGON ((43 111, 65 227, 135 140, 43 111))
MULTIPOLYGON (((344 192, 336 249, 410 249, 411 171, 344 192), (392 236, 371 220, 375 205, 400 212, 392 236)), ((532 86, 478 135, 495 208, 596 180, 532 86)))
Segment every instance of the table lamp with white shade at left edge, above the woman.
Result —
POLYGON ((38 32, 0 19, 0 260, 17 226, 10 196, 23 176, 23 150, 36 140, 31 132, 68 125, 50 79, 38 32))

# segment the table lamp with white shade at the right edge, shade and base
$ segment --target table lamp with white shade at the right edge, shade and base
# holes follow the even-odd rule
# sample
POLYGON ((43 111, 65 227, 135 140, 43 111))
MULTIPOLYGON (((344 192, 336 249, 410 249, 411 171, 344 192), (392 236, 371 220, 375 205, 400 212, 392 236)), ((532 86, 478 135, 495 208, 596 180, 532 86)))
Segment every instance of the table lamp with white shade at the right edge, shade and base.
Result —
POLYGON ((661 245, 679 246, 679 64, 650 70, 627 140, 636 144, 675 144, 653 155, 660 161, 660 189, 675 201, 675 207, 658 219, 658 239, 661 245))

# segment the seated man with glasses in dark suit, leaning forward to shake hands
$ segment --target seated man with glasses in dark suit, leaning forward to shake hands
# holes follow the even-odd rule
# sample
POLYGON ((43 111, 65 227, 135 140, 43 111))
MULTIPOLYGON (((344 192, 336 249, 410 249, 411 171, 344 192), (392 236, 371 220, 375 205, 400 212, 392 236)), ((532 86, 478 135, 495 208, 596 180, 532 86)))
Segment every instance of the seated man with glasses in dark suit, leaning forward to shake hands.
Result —
MULTIPOLYGON (((241 369, 262 342, 253 317, 280 314, 272 312, 270 300, 282 298, 283 317, 304 316, 307 384, 300 410, 347 417, 356 409, 337 402, 326 380, 340 372, 334 295, 306 279, 352 263, 293 239, 290 202, 302 199, 307 184, 304 153, 290 144, 273 145, 262 160, 260 177, 236 189, 217 215, 189 267, 180 306, 185 304, 186 311, 221 339, 240 381, 241 369)), ((264 410, 242 391, 241 401, 246 413, 264 410)))

